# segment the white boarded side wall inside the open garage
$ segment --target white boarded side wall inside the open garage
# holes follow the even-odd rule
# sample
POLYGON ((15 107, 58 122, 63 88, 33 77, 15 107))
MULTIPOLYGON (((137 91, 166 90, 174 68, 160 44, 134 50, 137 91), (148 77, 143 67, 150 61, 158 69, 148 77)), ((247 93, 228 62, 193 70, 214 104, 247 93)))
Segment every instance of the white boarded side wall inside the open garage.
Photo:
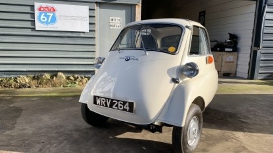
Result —
POLYGON ((205 27, 210 39, 224 42, 233 33, 238 39, 236 75, 248 77, 255 1, 246 0, 175 0, 173 17, 198 21, 199 12, 206 11, 205 27))

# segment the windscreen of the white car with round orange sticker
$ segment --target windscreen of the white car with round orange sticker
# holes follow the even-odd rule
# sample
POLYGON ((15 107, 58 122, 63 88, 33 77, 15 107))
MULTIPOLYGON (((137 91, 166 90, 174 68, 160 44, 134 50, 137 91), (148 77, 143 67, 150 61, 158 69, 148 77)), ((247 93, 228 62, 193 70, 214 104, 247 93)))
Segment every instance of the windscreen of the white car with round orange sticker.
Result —
POLYGON ((114 43, 111 51, 141 49, 144 51, 177 51, 182 28, 172 24, 141 24, 125 28, 114 43))

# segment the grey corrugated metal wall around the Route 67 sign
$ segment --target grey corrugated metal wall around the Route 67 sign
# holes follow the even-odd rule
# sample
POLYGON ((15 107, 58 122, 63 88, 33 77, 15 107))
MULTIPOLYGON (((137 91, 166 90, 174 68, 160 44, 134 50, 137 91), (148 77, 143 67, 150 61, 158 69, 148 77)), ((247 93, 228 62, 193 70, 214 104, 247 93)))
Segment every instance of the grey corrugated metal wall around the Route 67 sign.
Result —
POLYGON ((95 57, 92 1, 0 0, 0 77, 42 72, 90 74, 95 57), (34 2, 89 6, 90 31, 36 31, 34 2))

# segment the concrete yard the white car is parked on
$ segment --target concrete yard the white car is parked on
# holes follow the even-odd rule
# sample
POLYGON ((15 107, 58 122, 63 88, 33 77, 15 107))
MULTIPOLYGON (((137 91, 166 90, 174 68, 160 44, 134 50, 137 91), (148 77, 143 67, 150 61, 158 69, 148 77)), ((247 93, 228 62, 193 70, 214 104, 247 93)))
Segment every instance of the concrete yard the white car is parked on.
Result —
MULTIPOLYGON (((0 90, 0 153, 173 153, 172 128, 81 118, 81 88, 0 90)), ((196 153, 272 153, 273 81, 221 78, 196 153)))

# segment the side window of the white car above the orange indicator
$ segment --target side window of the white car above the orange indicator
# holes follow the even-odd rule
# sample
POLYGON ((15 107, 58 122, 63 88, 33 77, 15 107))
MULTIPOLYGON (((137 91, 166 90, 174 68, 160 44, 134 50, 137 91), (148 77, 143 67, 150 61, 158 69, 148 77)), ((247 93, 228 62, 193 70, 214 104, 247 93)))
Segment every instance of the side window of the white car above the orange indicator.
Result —
POLYGON ((192 33, 192 42, 190 55, 207 55, 210 54, 208 37, 203 28, 194 26, 192 33))

